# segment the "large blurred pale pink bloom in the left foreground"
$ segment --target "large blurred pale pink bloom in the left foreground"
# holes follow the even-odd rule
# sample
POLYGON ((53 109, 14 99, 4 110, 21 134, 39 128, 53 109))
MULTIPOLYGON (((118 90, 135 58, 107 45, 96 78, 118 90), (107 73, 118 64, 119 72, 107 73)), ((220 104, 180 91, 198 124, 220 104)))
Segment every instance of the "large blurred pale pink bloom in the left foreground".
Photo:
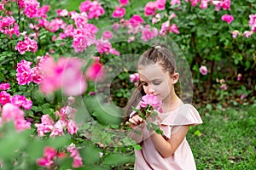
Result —
POLYGON ((44 74, 39 87, 40 91, 43 94, 51 94, 62 88, 67 95, 83 94, 87 83, 81 71, 82 66, 82 59, 61 57, 57 62, 52 57, 44 59, 39 65, 44 74))

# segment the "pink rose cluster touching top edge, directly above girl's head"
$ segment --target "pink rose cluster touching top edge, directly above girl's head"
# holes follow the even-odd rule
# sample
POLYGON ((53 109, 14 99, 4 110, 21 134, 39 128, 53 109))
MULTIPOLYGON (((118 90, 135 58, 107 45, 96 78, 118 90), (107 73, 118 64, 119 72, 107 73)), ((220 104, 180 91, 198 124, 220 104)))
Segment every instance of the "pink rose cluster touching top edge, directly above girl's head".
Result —
POLYGON ((155 2, 148 2, 144 8, 145 16, 154 15, 156 9, 164 10, 166 8, 166 0, 157 0, 155 2))

